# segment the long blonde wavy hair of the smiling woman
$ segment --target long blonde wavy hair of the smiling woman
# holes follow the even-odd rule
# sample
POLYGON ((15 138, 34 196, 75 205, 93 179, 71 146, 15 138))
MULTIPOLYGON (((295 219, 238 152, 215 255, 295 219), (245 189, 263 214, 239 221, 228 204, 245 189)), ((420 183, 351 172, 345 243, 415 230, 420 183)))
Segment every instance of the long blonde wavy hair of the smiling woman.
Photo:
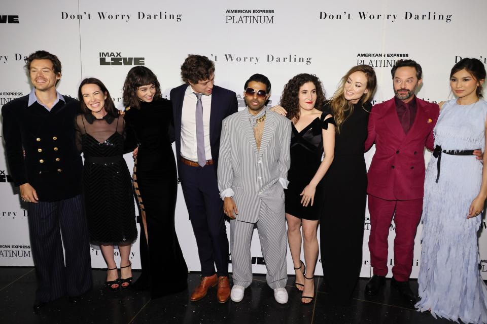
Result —
POLYGON ((354 113, 354 105, 345 99, 343 92, 345 89, 346 80, 348 80, 350 75, 355 72, 363 72, 367 78, 366 89, 368 91, 362 95, 362 98, 360 98, 360 103, 362 105, 372 98, 375 91, 375 86, 377 85, 375 71, 369 65, 357 65, 346 72, 346 74, 341 78, 338 88, 329 102, 329 107, 333 113, 333 117, 335 118, 337 133, 340 133, 340 126, 343 124, 343 122, 354 113))

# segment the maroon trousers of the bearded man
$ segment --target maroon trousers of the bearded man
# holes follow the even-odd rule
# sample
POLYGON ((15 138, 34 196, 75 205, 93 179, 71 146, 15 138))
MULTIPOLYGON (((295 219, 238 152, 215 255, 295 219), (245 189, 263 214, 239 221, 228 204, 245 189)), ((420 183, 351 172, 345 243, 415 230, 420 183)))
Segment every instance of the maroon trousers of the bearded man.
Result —
POLYGON ((376 275, 387 275, 388 236, 394 216, 394 266, 398 281, 407 281, 412 270, 414 237, 421 219, 423 199, 385 200, 368 196, 370 212, 370 264, 376 275))

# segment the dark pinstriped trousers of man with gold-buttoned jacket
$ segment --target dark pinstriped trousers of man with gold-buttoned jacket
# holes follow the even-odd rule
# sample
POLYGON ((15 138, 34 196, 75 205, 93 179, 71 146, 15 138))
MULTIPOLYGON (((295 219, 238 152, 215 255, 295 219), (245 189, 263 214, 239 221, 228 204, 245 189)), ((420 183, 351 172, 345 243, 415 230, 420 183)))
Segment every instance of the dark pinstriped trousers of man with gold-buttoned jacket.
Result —
POLYGON ((82 196, 28 205, 30 245, 38 284, 36 301, 83 294, 91 288, 92 278, 82 196))

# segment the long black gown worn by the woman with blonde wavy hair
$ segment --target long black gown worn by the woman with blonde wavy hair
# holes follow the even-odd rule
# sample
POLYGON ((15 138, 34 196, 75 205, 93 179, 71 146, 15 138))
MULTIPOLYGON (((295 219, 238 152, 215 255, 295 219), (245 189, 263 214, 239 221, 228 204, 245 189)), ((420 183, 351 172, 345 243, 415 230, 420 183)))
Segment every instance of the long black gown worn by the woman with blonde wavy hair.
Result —
MULTIPOLYGON (((335 134, 335 158, 325 175, 320 219, 325 289, 338 303, 350 303, 362 267, 367 169, 364 144, 370 103, 357 103, 335 134)), ((331 110, 328 105, 324 109, 331 110)))

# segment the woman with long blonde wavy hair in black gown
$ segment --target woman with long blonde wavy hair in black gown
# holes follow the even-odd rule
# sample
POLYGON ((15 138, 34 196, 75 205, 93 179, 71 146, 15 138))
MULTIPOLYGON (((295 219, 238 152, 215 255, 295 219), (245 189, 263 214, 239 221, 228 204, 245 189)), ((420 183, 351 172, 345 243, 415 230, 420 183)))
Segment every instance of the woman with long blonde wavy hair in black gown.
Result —
POLYGON ((325 104, 336 122, 335 158, 325 175, 325 204, 320 219, 321 264, 325 287, 339 304, 349 304, 362 267, 370 99, 376 77, 372 67, 351 68, 325 104))

